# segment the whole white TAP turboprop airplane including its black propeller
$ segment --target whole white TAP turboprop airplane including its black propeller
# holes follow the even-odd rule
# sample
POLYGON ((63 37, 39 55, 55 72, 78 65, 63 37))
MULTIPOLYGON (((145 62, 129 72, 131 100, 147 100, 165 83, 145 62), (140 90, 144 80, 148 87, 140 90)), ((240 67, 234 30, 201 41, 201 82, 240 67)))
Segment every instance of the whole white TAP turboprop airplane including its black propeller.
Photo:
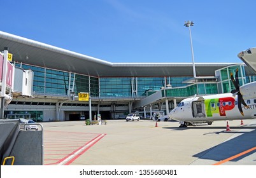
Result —
POLYGON ((184 99, 169 113, 170 118, 180 121, 180 127, 197 122, 255 119, 256 81, 240 86, 238 69, 235 79, 231 74, 231 81, 236 88, 231 93, 184 99))

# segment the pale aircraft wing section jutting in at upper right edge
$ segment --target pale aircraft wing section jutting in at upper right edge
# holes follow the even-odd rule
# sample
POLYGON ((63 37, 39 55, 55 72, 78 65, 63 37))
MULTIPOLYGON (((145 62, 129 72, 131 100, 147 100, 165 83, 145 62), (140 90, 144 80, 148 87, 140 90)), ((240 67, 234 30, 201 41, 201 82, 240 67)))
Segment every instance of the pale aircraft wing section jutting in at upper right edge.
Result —
POLYGON ((241 53, 238 54, 238 57, 256 72, 256 47, 241 51, 241 53))

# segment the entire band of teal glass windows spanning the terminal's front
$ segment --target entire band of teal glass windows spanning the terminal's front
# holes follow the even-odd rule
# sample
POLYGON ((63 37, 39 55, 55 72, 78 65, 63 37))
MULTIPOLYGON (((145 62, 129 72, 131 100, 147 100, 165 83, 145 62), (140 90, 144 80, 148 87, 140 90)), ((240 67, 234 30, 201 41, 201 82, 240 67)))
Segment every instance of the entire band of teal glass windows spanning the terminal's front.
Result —
POLYGON ((46 95, 68 95, 68 90, 73 88, 74 81, 75 95, 78 95, 79 92, 89 92, 92 97, 146 97, 159 91, 162 87, 165 88, 167 84, 170 84, 172 88, 162 92, 163 97, 226 93, 234 89, 230 76, 231 73, 235 75, 237 69, 240 85, 256 80, 255 76, 245 78, 243 64, 231 65, 215 71, 215 76, 218 78, 217 83, 208 81, 193 85, 183 83, 191 77, 96 78, 25 64, 22 65, 22 68, 31 69, 34 72, 34 93, 46 95))

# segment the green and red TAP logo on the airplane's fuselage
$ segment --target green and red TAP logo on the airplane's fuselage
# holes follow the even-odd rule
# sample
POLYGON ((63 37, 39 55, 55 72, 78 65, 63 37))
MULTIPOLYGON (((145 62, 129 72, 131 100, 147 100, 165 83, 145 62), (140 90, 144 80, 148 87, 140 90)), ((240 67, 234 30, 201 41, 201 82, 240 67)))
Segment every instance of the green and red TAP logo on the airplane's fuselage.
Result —
POLYGON ((230 111, 235 107, 235 99, 232 97, 218 98, 218 99, 206 99, 204 104, 206 107, 206 115, 212 117, 213 114, 220 114, 220 116, 226 116, 225 111, 230 111))

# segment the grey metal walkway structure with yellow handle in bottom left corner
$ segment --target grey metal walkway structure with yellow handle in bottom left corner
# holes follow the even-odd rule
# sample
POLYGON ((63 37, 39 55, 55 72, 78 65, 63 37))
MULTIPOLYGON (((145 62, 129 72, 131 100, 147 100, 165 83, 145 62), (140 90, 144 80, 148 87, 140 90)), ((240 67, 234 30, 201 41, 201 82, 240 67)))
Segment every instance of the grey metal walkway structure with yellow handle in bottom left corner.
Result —
POLYGON ((20 130, 19 120, 0 120, 1 165, 43 165, 43 126, 33 125, 39 130, 20 130))

